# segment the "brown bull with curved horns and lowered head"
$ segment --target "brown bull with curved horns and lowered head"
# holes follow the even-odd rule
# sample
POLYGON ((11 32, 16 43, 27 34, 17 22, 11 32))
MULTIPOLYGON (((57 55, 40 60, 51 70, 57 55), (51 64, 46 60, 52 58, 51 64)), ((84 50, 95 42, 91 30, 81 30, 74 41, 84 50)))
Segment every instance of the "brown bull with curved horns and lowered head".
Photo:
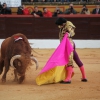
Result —
POLYGON ((1 44, 0 74, 3 72, 3 67, 5 67, 2 82, 6 82, 7 72, 9 67, 12 66, 14 67, 14 81, 22 83, 31 60, 36 63, 37 69, 38 61, 31 55, 31 46, 24 34, 17 33, 6 38, 1 44))

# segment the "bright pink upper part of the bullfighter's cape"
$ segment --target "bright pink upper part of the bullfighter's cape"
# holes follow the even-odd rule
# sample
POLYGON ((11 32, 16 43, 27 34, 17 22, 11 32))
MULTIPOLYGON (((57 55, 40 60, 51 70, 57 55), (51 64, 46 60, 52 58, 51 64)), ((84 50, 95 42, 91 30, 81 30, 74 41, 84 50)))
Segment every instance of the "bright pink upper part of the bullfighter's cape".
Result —
POLYGON ((69 55, 73 51, 73 47, 67 38, 67 33, 65 34, 62 42, 56 48, 46 65, 41 70, 40 74, 56 67, 56 66, 63 66, 68 63, 69 55))

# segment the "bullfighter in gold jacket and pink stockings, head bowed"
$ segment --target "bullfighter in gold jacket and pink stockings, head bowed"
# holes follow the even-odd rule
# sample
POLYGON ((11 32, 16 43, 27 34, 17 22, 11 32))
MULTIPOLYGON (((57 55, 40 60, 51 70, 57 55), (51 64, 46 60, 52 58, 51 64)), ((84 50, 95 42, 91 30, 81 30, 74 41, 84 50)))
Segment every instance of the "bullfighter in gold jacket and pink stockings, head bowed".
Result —
POLYGON ((82 82, 87 82, 84 65, 81 62, 81 60, 79 59, 79 56, 78 56, 78 54, 75 50, 75 43, 72 40, 72 37, 75 35, 74 30, 75 30, 76 27, 73 25, 72 22, 67 21, 65 18, 61 18, 61 17, 56 20, 55 24, 58 25, 58 27, 60 28, 60 32, 59 32, 60 41, 62 41, 65 33, 67 32, 68 33, 68 38, 69 38, 69 40, 70 40, 70 42, 71 42, 71 44, 73 45, 73 48, 74 48, 73 52, 70 55, 69 63, 66 65, 68 75, 65 78, 65 80, 62 81, 61 83, 63 83, 63 84, 71 83, 71 74, 72 74, 72 71, 73 71, 73 68, 72 68, 73 67, 73 60, 78 65, 78 67, 80 68, 80 71, 82 73, 81 81, 82 82))

